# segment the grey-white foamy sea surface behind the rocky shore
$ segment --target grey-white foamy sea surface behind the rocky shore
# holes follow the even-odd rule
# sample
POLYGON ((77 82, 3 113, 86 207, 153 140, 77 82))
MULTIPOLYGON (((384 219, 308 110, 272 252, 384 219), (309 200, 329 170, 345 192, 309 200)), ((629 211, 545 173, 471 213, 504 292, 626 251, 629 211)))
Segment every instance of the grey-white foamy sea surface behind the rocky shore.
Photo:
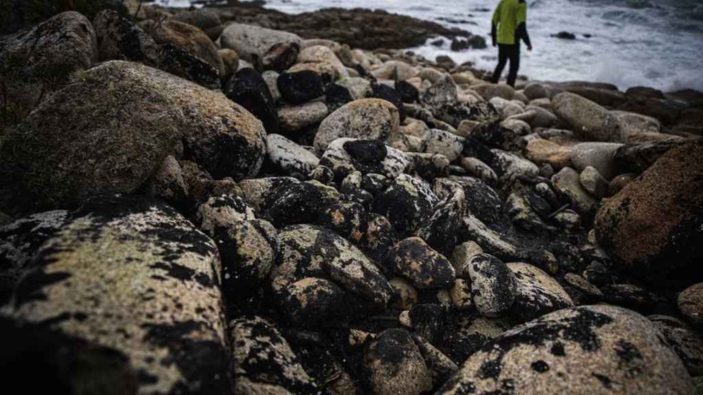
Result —
MULTIPOLYGON (((188 0, 157 0, 188 6, 188 0)), ((269 0, 267 8, 303 13, 320 8, 372 8, 432 20, 482 35, 483 50, 453 52, 428 42, 409 48, 426 58, 449 55, 493 70, 491 16, 498 0, 269 0)), ((703 0, 527 0, 527 30, 534 50, 523 46, 520 74, 548 81, 610 82, 620 89, 652 86, 663 91, 703 91, 703 0), (551 37, 567 31, 576 40, 551 37), (590 35, 586 37, 585 35, 590 35)), ((507 67, 506 71, 507 72, 507 67)))

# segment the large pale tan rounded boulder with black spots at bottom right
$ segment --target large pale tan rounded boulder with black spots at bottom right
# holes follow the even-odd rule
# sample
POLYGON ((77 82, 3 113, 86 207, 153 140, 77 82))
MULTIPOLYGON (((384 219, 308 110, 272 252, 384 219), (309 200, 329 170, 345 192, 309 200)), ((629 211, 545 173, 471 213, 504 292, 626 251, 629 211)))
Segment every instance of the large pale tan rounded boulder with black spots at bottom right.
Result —
POLYGON ((652 323, 614 306, 563 309, 504 332, 438 395, 692 394, 681 360, 652 323))

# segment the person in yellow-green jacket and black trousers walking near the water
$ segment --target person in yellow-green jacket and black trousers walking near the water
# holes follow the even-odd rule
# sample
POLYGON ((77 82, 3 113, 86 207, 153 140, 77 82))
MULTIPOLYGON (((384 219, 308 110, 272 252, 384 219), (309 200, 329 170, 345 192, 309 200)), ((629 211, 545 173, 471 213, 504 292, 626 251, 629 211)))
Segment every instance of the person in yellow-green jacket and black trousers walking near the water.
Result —
POLYGON ((498 65, 491 79, 494 84, 498 84, 505 63, 510 60, 508 85, 515 87, 517 69, 520 68, 520 40, 527 44, 527 51, 532 51, 525 22, 527 22, 525 0, 501 0, 498 3, 491 23, 493 46, 498 44, 498 65))

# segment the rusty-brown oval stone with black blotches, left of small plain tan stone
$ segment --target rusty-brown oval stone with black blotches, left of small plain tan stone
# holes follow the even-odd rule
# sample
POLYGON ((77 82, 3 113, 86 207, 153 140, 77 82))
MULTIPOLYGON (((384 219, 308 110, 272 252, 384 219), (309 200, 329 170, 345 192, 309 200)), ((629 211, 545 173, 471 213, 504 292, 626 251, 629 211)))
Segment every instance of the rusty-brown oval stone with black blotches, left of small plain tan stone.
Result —
POLYGON ((406 238, 388 253, 386 266, 409 278, 415 287, 449 289, 456 278, 449 260, 432 250, 423 239, 406 238))

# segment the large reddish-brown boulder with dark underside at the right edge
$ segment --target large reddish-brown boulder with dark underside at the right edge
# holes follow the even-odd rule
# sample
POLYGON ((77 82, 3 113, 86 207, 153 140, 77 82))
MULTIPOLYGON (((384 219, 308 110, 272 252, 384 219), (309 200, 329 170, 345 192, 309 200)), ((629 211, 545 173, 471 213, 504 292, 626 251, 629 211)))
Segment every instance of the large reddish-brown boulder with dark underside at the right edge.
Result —
POLYGON ((598 243, 620 268, 654 283, 703 278, 703 142, 669 150, 607 200, 595 219, 598 243))

